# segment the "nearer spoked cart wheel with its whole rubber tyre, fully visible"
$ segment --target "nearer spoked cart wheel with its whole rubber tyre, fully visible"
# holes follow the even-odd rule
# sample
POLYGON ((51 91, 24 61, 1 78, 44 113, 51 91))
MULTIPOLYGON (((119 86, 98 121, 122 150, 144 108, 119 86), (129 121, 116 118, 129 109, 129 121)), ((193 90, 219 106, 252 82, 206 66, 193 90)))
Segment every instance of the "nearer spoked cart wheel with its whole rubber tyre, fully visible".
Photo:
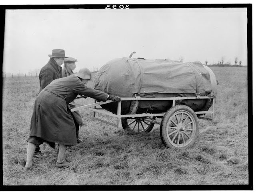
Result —
POLYGON ((196 113, 186 105, 176 105, 164 115, 160 136, 166 147, 192 146, 198 137, 199 124, 196 113))

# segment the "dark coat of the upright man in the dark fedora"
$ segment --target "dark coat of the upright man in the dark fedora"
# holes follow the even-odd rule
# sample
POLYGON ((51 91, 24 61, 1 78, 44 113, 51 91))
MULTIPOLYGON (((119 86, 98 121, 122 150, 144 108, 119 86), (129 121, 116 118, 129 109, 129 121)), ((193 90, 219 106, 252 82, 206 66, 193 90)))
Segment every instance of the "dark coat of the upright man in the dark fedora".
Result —
MULTIPOLYGON (((40 91, 49 85, 53 80, 61 78, 62 67, 59 67, 53 58, 42 67, 39 73, 40 91)), ((39 91, 39 92, 40 92, 39 91)))

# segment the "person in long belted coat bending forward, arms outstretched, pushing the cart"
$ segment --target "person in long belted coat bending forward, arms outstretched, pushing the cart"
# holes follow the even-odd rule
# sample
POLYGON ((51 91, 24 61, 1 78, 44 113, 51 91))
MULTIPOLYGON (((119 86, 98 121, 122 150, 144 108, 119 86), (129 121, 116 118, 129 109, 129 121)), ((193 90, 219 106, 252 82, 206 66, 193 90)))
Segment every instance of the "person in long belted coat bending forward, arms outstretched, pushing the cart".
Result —
POLYGON ((30 170, 33 165, 36 145, 44 142, 59 144, 56 167, 70 167, 71 163, 66 160, 66 148, 75 146, 77 140, 74 120, 67 109, 67 104, 77 95, 85 95, 100 101, 121 101, 118 96, 87 87, 86 83, 89 80, 90 70, 83 68, 74 75, 52 81, 38 94, 33 107, 24 171, 30 170))

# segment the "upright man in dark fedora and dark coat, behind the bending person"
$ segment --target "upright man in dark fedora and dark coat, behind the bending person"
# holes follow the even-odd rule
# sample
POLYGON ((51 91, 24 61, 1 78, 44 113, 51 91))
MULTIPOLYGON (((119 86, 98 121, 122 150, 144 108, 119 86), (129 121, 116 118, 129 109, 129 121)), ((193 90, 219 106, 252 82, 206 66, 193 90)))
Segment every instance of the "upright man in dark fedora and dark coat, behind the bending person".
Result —
MULTIPOLYGON (((65 56, 64 49, 53 49, 52 54, 48 55, 50 60, 39 73, 39 84, 40 84, 40 91, 44 89, 47 85, 49 85, 53 80, 61 78, 61 70, 62 70, 62 63, 64 62, 65 56)), ((39 145, 36 146, 36 150, 34 153, 35 158, 47 158, 47 155, 42 154, 40 152, 39 145)))

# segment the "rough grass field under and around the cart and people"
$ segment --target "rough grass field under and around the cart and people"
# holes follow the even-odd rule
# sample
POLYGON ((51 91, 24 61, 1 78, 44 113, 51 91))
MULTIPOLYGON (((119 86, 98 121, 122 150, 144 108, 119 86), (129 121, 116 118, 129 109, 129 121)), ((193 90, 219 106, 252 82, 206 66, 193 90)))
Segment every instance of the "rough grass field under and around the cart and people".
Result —
MULTIPOLYGON (((39 79, 4 79, 3 185, 247 185, 247 67, 211 69, 218 80, 215 120, 199 120, 194 146, 184 150, 165 148, 159 125, 150 133, 131 134, 94 121, 93 112, 82 110, 83 142, 68 147, 66 153, 72 167, 58 169, 58 154, 42 144, 41 151, 49 156, 33 158, 29 172, 22 169, 39 79)), ((93 100, 76 102, 89 104, 93 100)), ((116 122, 111 117, 108 120, 116 122)))

